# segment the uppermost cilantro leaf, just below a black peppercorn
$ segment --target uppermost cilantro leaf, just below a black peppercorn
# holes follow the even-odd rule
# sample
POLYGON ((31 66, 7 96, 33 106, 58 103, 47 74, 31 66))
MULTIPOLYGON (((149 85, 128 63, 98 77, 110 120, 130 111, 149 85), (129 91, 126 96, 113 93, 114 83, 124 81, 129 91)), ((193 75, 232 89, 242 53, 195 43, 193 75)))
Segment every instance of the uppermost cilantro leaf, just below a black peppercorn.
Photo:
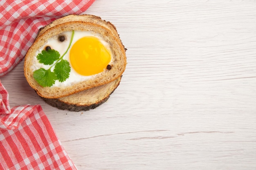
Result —
POLYGON ((60 53, 54 49, 43 50, 36 56, 37 60, 45 65, 53 64, 59 57, 61 57, 60 53))

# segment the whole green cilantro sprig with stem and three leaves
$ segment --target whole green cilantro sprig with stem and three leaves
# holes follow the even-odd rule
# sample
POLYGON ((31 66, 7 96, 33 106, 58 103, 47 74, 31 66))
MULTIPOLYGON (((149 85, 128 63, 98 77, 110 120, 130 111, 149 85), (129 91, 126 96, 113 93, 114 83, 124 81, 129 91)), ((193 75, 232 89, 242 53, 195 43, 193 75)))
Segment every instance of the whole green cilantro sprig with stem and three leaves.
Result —
POLYGON ((67 60, 63 60, 63 57, 67 53, 68 49, 70 49, 73 37, 74 31, 72 31, 70 44, 62 56, 54 49, 49 49, 47 51, 43 50, 36 56, 39 63, 51 65, 47 70, 45 68, 39 68, 33 72, 33 77, 36 79, 38 84, 43 87, 50 87, 55 84, 56 80, 64 82, 69 77, 71 71, 70 63, 67 60), (54 67, 53 72, 51 71, 52 67, 54 67))

